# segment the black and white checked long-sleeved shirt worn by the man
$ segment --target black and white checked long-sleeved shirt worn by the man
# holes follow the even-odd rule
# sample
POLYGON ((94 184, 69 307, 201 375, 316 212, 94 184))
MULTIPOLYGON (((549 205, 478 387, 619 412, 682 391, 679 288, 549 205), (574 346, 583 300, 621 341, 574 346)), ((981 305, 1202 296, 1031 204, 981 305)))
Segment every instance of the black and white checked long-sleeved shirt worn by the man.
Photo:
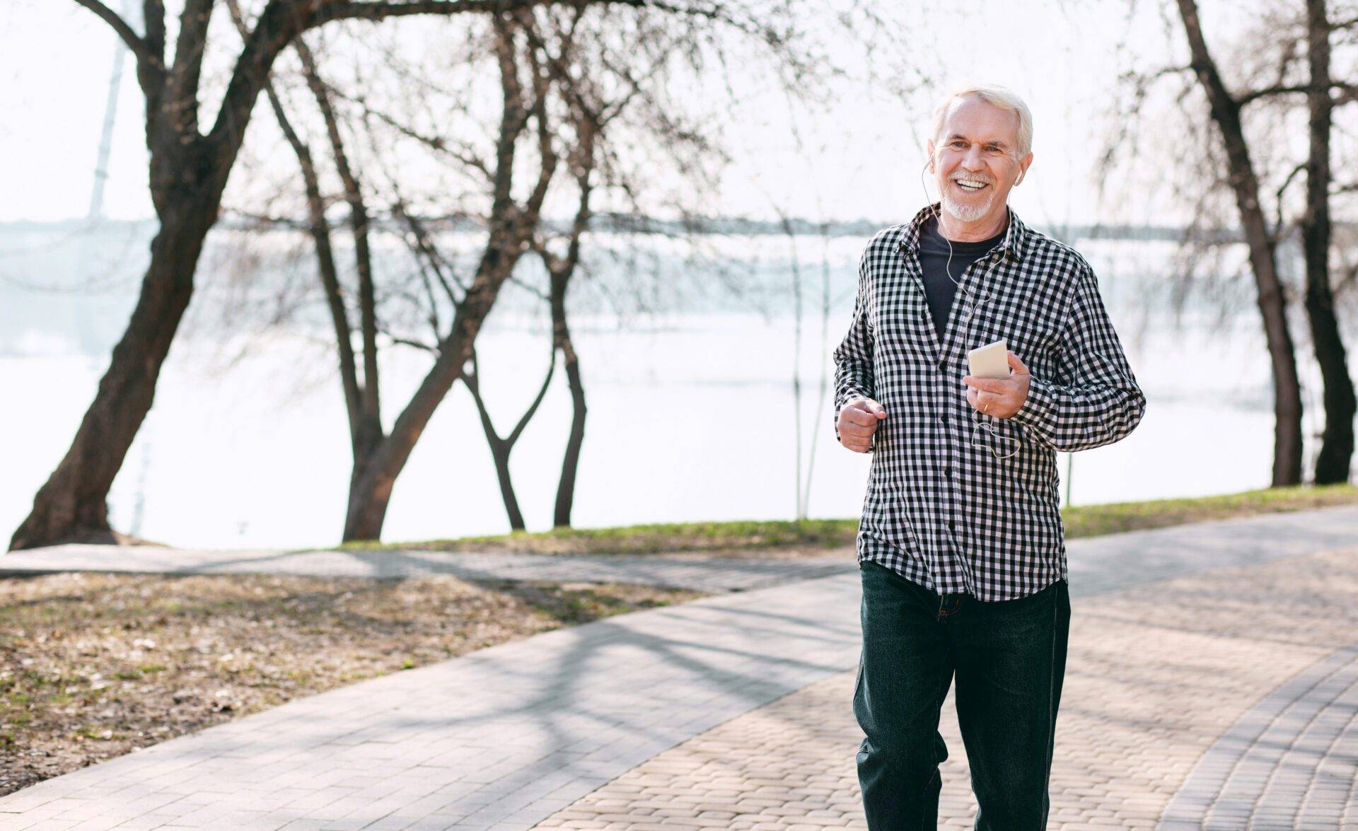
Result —
POLYGON ((887 410, 872 445, 858 559, 938 593, 1012 600, 1067 578, 1055 451, 1127 436, 1146 398, 1108 320, 1093 269, 1070 246, 1009 231, 963 272, 940 344, 919 266, 925 208, 864 250, 853 320, 834 352, 839 410, 887 410), (991 341, 1032 375, 1009 418, 967 401, 967 352, 991 341))

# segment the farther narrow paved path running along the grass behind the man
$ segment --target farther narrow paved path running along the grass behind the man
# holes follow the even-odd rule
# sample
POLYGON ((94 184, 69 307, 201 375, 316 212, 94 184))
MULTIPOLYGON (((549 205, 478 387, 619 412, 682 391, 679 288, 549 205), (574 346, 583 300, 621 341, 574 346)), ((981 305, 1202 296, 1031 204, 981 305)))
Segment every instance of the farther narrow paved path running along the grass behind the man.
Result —
MULTIPOLYGON (((1350 544, 1358 506, 1224 519, 1069 540, 1073 592, 1116 591, 1203 568, 1267 562, 1350 544), (1134 551, 1134 557, 1128 553, 1134 551)), ((851 549, 823 558, 672 555, 451 554, 447 551, 193 550, 134 546, 110 562, 107 546, 52 546, 0 555, 0 574, 61 570, 280 573, 322 577, 456 574, 481 580, 641 583, 708 592, 751 591, 856 569, 851 549)))

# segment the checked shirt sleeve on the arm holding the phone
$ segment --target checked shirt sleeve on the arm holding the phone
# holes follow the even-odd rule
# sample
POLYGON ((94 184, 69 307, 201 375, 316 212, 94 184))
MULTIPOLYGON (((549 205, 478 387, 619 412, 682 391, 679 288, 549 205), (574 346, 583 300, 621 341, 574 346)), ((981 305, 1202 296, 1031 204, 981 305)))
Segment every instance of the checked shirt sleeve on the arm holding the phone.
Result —
POLYGON ((1119 441, 1146 411, 1099 281, 1084 263, 1062 325, 1052 377, 1032 376, 1010 418, 1052 449, 1074 452, 1119 441))

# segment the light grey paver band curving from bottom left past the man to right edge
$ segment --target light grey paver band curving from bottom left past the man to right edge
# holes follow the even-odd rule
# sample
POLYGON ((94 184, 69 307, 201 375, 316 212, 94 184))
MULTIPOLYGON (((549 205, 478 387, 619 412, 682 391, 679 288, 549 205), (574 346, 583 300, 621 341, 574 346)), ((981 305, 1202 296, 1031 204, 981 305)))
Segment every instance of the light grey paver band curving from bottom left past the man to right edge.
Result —
MULTIPOLYGON (((1354 546, 1351 506, 1070 540, 1071 596, 1154 593, 1149 584, 1354 546)), ((851 678, 860 587, 851 562, 838 568, 297 699, 0 797, 0 827, 530 828, 725 722, 851 678)), ((841 759, 850 774, 854 745, 841 759)))

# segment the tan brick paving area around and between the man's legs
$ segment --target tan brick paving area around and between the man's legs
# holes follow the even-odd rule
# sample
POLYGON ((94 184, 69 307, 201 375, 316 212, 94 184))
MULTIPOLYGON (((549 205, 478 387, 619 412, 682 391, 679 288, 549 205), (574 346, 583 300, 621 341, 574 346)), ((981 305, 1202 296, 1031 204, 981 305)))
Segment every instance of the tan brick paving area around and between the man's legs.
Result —
MULTIPOLYGON (((1339 793, 1325 786, 1342 782, 1342 804, 1336 797, 1327 808, 1316 802, 1308 808, 1313 819, 1296 826, 1290 816, 1285 824, 1266 826, 1256 817, 1251 826, 1224 807, 1206 826, 1202 816, 1181 816, 1192 820, 1183 827, 1358 828, 1358 732, 1344 732, 1355 725, 1346 695, 1358 690, 1351 684, 1358 672, 1343 675, 1328 691, 1308 679, 1312 668, 1323 678, 1358 668, 1355 653, 1343 649, 1358 637, 1358 547, 1077 596, 1071 606, 1050 828, 1157 827, 1194 764, 1272 690, 1283 690, 1293 705, 1310 701, 1305 694, 1312 690, 1319 699, 1286 736, 1274 736, 1279 751, 1263 766, 1255 796, 1260 804, 1296 811, 1308 798, 1339 793), (1301 684, 1289 688, 1291 678, 1301 684), (1325 703, 1338 706, 1327 710, 1325 703), (1278 762, 1324 712, 1334 716, 1320 736, 1331 775, 1309 775, 1306 788, 1286 790, 1278 762), (1340 733, 1348 736, 1346 743, 1338 740, 1340 733)), ((841 672, 733 718, 535 827, 636 831, 664 817, 668 827, 865 828, 854 767, 862 739, 851 709, 854 680, 854 671, 841 672)), ((1286 712, 1275 709, 1275 716, 1286 712)), ((970 828, 976 807, 953 691, 940 732, 949 752, 940 827, 970 828)))

